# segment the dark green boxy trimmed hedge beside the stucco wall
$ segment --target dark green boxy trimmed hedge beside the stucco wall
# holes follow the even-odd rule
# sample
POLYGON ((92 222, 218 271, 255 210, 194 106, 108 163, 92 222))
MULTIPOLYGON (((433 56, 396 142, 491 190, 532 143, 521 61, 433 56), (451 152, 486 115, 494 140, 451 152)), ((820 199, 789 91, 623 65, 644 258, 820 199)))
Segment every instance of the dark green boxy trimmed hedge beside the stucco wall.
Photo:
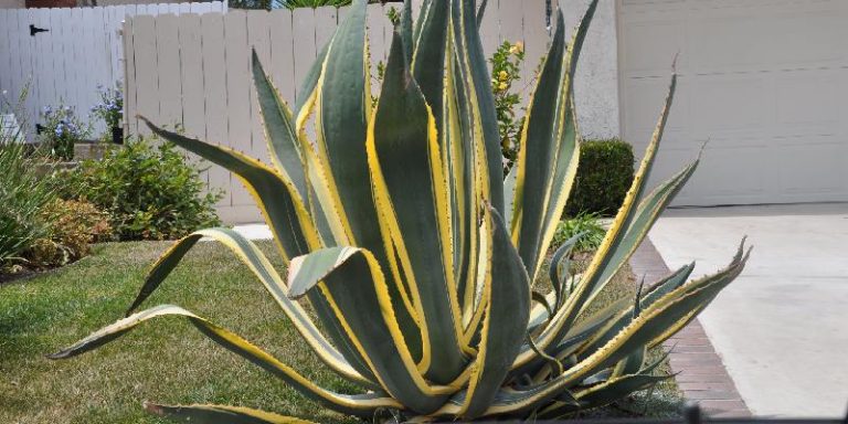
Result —
POLYGON ((633 183, 633 146, 619 139, 585 140, 566 216, 581 213, 614 215, 633 183))

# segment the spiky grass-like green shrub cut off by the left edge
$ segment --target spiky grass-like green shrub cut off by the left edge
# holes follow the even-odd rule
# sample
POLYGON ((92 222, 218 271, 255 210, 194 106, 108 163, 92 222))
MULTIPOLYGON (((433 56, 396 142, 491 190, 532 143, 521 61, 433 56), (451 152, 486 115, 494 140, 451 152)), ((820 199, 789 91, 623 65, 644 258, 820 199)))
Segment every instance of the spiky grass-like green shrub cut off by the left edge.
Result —
POLYGON ((0 269, 23 261, 23 252, 50 233, 41 211, 55 200, 26 148, 8 141, 0 140, 0 269))

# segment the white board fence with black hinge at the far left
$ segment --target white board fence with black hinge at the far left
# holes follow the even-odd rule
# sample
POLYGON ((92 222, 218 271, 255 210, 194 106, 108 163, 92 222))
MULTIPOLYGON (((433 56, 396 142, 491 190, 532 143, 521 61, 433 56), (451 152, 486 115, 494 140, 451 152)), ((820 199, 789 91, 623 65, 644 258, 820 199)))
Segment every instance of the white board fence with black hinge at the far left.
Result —
MULTIPOLYGON (((29 88, 18 118, 30 131, 45 106, 71 106, 87 120, 99 102, 97 86, 124 82, 120 31, 126 17, 225 11, 222 2, 0 9, 0 92, 13 103, 29 88), (30 25, 49 31, 33 36, 30 25)), ((95 127, 103 130, 99 124, 95 127)))

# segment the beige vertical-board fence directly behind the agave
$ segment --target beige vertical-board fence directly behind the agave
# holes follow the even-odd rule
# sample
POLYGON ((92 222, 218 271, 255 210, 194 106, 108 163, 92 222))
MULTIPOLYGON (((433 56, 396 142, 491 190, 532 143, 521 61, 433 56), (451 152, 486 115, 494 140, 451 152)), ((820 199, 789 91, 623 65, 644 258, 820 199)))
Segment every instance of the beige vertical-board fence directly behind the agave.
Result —
MULTIPOLYGON (((417 1, 414 3, 418 3, 417 1)), ((555 1, 554 1, 555 7, 555 1)), ((369 6, 374 62, 383 61, 392 36, 386 9, 369 6)), ((416 8, 417 9, 417 8, 416 8)), ((293 103, 317 52, 332 36, 347 9, 267 11, 231 9, 225 14, 137 15, 124 26, 127 54, 126 116, 130 134, 148 134, 137 114, 188 135, 231 146, 268 161, 251 78, 255 47, 283 97, 293 103)), ((504 40, 524 41, 526 81, 548 45, 544 0, 490 0, 481 29, 487 52, 504 40)), ((374 87, 374 91, 377 87, 374 87)), ((219 213, 226 222, 259 219, 250 194, 218 167, 209 183, 226 192, 219 213)))

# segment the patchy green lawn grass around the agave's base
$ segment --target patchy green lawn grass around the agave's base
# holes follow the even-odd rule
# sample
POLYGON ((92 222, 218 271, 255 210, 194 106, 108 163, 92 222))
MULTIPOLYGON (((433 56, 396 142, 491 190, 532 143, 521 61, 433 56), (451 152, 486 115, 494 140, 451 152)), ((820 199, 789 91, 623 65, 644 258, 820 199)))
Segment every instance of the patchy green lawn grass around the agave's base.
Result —
MULTIPOLYGON (((123 316, 149 265, 168 245, 97 245, 94 255, 71 266, 0 286, 1 423, 162 423, 141 410, 142 400, 235 404, 321 423, 357 422, 306 400, 177 318, 153 320, 81 357, 44 358, 123 316)), ((282 267, 271 243, 261 247, 282 267)), ((626 275, 613 287, 615 296, 634 290, 626 275)), ((319 363, 250 271, 218 244, 200 243, 146 306, 166 303, 234 330, 322 386, 356 390, 319 363)), ((679 406, 676 393, 674 386, 660 386, 660 395, 636 396, 630 406, 668 416, 679 406)), ((600 413, 629 414, 621 407, 600 413)))

